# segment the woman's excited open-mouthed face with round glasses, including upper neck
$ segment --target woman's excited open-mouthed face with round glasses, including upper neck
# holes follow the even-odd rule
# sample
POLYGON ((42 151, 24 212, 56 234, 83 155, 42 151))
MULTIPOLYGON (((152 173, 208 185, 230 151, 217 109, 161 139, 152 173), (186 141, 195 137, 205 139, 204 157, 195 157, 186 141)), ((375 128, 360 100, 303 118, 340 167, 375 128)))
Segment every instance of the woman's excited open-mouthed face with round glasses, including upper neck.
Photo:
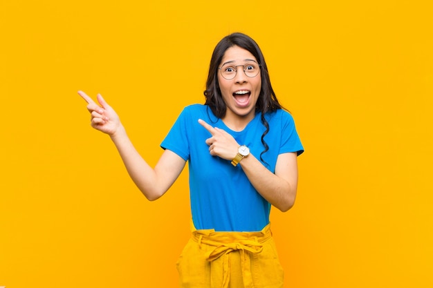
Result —
POLYGON ((219 88, 227 106, 223 119, 251 120, 255 116, 255 106, 260 95, 261 75, 260 71, 257 71, 255 77, 248 77, 247 74, 251 76, 255 73, 250 71, 260 70, 257 59, 248 50, 232 46, 225 51, 219 67, 222 67, 218 71, 219 88), (221 74, 221 71, 233 73, 234 69, 237 73, 233 79, 225 79, 221 74))

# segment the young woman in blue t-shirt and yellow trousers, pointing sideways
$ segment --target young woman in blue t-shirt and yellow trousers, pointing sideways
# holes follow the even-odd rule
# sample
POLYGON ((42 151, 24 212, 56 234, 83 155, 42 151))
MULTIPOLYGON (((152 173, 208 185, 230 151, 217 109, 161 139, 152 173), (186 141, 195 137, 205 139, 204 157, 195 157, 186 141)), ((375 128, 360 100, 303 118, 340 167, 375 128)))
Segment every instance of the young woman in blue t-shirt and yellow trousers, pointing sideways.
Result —
POLYGON ((140 157, 113 108, 82 91, 91 126, 114 142, 131 179, 160 198, 188 162, 192 238, 178 260, 181 287, 282 287, 270 207, 290 209, 304 148, 270 85, 256 42, 241 33, 216 45, 204 105, 185 107, 154 168, 140 157))

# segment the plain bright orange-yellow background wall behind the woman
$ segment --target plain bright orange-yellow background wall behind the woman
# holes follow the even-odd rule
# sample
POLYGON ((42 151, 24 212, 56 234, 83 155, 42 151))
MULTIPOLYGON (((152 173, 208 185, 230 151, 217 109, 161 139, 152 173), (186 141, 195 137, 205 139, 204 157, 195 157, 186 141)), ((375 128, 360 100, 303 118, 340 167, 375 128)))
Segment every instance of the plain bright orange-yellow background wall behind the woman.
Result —
POLYGON ((176 287, 187 171, 147 202, 76 94, 143 157, 203 103, 212 49, 261 46, 306 148, 271 213, 286 287, 433 287, 430 1, 0 1, 0 286, 176 287))

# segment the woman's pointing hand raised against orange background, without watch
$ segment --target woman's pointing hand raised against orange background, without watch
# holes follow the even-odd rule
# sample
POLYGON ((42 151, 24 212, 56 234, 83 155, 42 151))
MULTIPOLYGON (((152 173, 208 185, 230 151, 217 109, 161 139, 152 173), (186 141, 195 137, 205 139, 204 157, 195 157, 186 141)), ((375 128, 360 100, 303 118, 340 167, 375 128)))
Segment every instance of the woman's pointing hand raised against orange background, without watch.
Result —
POLYGON ((91 114, 91 126, 111 137, 116 135, 122 128, 122 124, 120 124, 117 113, 105 102, 104 98, 98 94, 96 97, 100 104, 98 105, 83 91, 78 91, 78 94, 87 102, 87 110, 91 114))

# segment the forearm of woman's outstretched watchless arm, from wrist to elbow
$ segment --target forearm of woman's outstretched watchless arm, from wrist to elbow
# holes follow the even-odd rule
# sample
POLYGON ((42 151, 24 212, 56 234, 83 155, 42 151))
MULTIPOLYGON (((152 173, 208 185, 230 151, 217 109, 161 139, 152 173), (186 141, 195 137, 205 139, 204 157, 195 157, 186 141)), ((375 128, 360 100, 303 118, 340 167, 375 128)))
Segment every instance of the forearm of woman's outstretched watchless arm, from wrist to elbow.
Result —
POLYGON ((154 169, 141 157, 123 126, 120 126, 116 134, 111 135, 111 140, 116 145, 120 157, 129 173, 129 176, 138 189, 148 200, 160 198, 165 191, 158 185, 158 177, 154 169))

